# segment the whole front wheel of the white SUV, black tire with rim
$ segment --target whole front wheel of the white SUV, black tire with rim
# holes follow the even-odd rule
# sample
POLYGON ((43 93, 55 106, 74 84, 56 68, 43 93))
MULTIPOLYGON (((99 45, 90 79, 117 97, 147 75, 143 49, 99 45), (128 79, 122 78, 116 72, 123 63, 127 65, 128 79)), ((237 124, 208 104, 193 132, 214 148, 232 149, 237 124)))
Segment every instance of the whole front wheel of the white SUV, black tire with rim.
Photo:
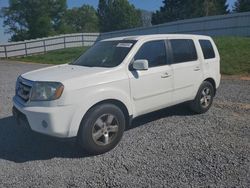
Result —
POLYGON ((85 115, 78 132, 78 143, 90 154, 112 150, 120 142, 125 129, 123 111, 113 104, 100 104, 85 115))

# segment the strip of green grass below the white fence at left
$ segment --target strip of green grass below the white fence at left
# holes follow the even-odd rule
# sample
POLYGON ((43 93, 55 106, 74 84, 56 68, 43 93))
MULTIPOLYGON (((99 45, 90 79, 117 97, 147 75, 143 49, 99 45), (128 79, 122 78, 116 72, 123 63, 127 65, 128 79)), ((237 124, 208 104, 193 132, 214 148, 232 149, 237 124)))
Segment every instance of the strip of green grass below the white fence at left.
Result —
POLYGON ((88 47, 67 48, 47 52, 46 54, 37 54, 27 57, 12 58, 13 60, 43 64, 63 64, 69 63, 84 53, 88 47))

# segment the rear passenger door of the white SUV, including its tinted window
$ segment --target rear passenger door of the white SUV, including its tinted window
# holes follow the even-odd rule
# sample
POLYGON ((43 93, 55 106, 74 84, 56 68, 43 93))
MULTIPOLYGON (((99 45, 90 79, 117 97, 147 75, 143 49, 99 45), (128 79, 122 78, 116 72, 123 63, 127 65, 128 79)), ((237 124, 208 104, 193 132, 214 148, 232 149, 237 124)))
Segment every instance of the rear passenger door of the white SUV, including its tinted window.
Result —
POLYGON ((192 100, 202 80, 202 66, 192 39, 170 39, 171 67, 174 72, 173 102, 192 100))

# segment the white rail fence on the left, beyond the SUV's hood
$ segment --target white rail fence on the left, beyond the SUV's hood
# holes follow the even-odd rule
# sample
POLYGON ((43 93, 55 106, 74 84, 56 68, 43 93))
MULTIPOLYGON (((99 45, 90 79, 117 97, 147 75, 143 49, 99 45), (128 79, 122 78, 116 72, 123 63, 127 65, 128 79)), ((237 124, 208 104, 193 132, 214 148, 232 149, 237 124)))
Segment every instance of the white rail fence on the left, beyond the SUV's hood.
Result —
POLYGON ((52 50, 91 46, 99 33, 75 33, 0 45, 0 58, 27 56, 52 50))

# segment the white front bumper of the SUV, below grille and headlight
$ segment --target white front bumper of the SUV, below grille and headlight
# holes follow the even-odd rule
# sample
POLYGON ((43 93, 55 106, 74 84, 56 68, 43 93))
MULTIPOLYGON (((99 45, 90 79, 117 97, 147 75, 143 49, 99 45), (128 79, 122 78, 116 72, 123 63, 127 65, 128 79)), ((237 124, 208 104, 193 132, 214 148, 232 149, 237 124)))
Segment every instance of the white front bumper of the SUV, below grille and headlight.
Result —
POLYGON ((24 121, 32 131, 45 135, 68 138, 73 106, 34 107, 24 106, 13 98, 13 115, 18 121, 24 121))

